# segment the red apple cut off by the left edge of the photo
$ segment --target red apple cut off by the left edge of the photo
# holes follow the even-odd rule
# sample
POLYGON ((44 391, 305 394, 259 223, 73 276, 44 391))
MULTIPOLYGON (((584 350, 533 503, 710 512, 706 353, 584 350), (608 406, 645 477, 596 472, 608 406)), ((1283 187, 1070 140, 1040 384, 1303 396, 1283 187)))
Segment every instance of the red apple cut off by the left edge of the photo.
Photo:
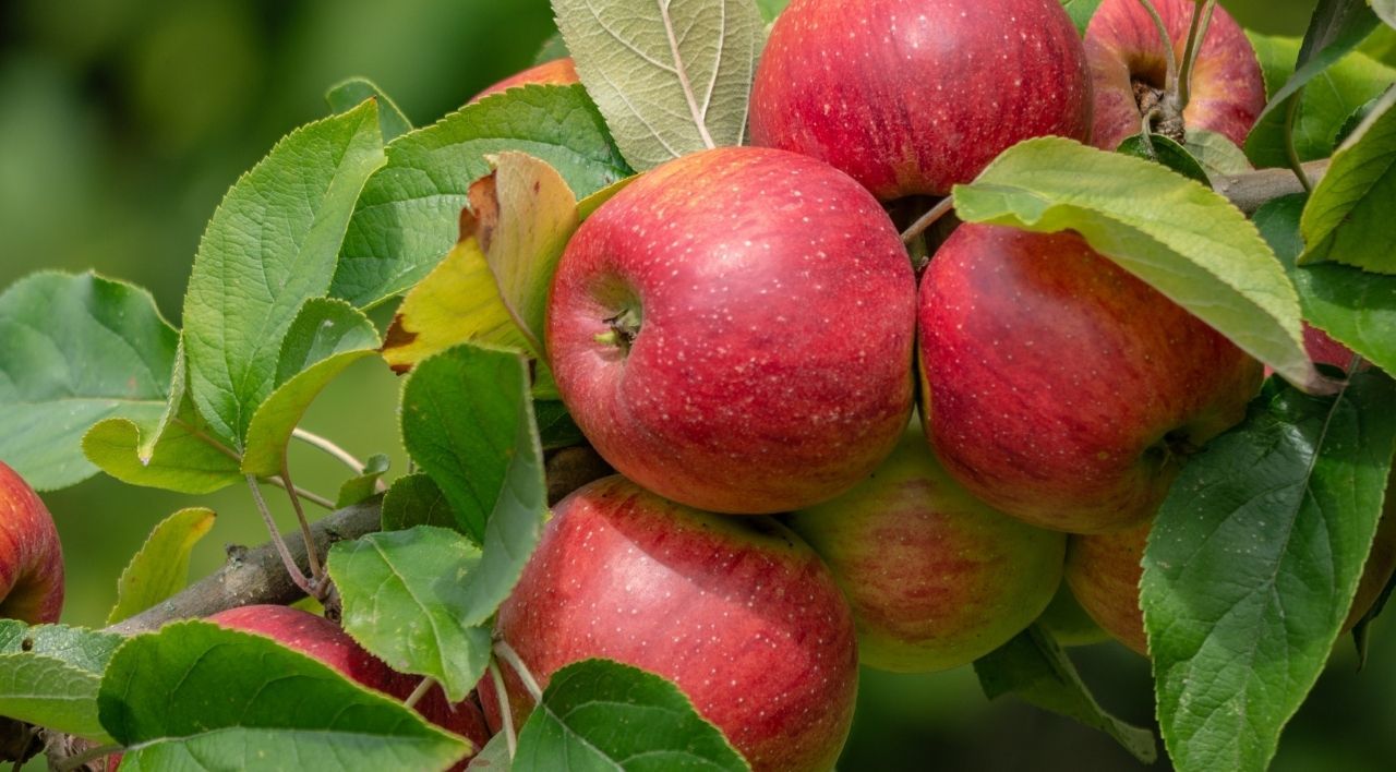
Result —
POLYGON ((47 624, 61 611, 63 544, 53 517, 0 461, 0 618, 47 624))

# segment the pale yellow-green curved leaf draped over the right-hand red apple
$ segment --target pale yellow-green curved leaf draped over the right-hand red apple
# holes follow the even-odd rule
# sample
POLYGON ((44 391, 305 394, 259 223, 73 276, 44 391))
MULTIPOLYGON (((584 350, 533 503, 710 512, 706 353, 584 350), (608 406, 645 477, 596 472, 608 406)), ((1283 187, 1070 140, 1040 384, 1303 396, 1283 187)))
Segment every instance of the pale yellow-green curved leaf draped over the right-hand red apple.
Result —
POLYGON ((1156 163, 1043 137, 1009 148, 953 195, 966 222, 1079 232, 1251 356, 1322 389, 1304 353, 1294 288, 1245 215, 1205 186, 1156 163))

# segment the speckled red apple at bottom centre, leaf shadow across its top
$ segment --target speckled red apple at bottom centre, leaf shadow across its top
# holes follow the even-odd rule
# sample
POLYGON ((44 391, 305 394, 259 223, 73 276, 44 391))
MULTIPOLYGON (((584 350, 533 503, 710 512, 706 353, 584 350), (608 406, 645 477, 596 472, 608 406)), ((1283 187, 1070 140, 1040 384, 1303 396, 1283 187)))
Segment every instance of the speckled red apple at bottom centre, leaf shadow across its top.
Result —
MULTIPOLYGON (((620 476, 557 505, 496 635, 544 687, 588 658, 674 681, 758 772, 832 768, 853 720, 853 617, 814 550, 771 518, 701 512, 620 476)), ((530 701, 504 669, 519 726, 530 701)))

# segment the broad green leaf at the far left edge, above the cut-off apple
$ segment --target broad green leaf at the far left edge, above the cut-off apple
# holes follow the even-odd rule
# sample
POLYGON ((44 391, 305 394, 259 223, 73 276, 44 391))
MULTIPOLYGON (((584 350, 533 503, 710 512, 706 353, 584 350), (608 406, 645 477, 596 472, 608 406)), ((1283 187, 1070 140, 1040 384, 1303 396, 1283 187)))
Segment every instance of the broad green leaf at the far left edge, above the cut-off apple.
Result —
POLYGON ((82 434, 165 410, 179 334, 144 289, 95 274, 34 274, 0 295, 0 459, 38 490, 96 469, 82 434))

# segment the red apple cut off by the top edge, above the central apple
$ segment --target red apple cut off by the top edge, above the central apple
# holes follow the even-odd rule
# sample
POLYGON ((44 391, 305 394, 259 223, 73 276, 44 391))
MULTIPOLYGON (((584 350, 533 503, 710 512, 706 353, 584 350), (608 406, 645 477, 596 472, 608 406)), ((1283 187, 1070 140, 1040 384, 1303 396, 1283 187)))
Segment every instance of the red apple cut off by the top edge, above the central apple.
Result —
POLYGON ((1058 0, 794 0, 751 91, 751 141, 882 201, 946 195, 1022 140, 1090 133, 1090 77, 1058 0))

